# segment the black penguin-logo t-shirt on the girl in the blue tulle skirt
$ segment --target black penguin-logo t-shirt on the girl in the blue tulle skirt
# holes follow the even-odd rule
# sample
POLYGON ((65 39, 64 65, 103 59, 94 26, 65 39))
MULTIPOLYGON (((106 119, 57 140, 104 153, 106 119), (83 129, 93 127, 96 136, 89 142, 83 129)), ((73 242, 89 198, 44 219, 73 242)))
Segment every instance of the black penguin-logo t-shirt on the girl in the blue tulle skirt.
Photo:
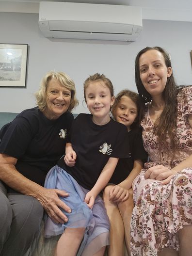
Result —
POLYGON ((127 128, 114 120, 103 126, 92 121, 91 114, 79 114, 70 131, 73 149, 77 154, 74 167, 58 165, 73 176, 86 189, 92 189, 110 157, 128 158, 127 128))

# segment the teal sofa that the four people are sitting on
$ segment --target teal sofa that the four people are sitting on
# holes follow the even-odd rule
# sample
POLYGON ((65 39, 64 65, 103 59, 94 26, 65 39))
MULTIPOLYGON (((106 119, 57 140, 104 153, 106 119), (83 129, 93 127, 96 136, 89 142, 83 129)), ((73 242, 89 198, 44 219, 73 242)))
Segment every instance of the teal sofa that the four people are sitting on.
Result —
MULTIPOLYGON (((3 125, 11 122, 17 114, 18 113, 15 112, 0 112, 0 129, 3 127, 3 125)), ((74 117, 76 117, 77 115, 78 114, 74 114, 74 117)), ((25 256, 53 256, 54 248, 59 239, 59 236, 53 237, 51 239, 45 239, 43 237, 43 230, 44 223, 42 222, 41 231, 39 232, 38 236, 33 240, 32 245, 25 254, 25 256)), ((105 256, 107 256, 107 252, 105 253, 105 256)), ((128 256, 126 247, 124 256, 128 256)))

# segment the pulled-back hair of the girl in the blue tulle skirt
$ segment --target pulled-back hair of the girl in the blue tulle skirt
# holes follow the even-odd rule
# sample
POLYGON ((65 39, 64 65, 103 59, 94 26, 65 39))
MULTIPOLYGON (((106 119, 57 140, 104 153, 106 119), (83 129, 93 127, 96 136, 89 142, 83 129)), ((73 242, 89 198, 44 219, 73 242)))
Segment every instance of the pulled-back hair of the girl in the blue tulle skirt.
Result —
POLYGON ((106 78, 105 75, 100 75, 99 73, 96 73, 92 76, 89 76, 83 83, 83 88, 84 88, 84 98, 85 98, 85 102, 86 102, 86 96, 85 96, 85 91, 87 89, 87 87, 89 86, 89 84, 91 82, 96 82, 96 81, 103 81, 105 83, 105 85, 109 88, 111 96, 114 96, 114 91, 113 91, 113 85, 110 79, 106 78))

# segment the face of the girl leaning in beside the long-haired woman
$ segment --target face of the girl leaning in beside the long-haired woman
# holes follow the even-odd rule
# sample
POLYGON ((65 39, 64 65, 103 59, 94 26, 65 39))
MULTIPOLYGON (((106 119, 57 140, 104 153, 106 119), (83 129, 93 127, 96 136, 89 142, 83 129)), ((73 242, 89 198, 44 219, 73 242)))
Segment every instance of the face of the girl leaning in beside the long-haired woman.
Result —
POLYGON ((114 111, 115 120, 127 126, 129 131, 136 117, 137 105, 128 96, 122 96, 114 111))

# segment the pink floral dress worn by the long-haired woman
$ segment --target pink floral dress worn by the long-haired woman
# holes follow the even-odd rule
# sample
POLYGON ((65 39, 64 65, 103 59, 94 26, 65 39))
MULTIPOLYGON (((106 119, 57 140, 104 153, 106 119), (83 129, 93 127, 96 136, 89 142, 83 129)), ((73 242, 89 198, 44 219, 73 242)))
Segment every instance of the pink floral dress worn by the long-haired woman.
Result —
MULTIPOLYGON (((178 93, 177 103, 179 147, 174 166, 192 154, 192 128, 188 121, 189 114, 192 114, 191 86, 178 93)), ((183 225, 192 224, 192 168, 178 172, 167 185, 154 179, 145 180, 144 173, 149 167, 162 164, 171 169, 173 155, 169 146, 160 152, 148 108, 141 125, 150 162, 144 164, 144 169, 133 182, 135 208, 131 221, 131 255, 157 256, 162 248, 178 251, 177 231, 183 225)))

